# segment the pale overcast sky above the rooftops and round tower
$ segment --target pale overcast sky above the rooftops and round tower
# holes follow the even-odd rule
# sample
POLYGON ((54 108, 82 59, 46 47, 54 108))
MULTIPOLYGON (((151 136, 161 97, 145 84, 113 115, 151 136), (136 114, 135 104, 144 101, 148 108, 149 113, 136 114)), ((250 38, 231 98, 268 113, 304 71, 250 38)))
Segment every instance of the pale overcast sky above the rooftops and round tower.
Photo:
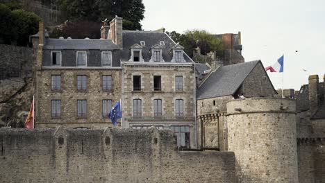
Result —
POLYGON ((144 30, 164 27, 169 32, 183 33, 198 28, 213 34, 240 31, 245 62, 261 60, 267 67, 284 55, 283 74, 268 72, 276 89, 283 85, 299 90, 313 74, 323 81, 324 0, 143 0, 143 3, 144 30))

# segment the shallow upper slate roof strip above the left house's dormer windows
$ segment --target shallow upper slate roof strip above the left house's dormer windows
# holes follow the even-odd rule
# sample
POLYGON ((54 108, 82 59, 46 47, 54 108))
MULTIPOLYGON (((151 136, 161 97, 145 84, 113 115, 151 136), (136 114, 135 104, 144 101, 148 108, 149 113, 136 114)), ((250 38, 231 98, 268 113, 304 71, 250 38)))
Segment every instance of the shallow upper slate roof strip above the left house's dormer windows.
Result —
POLYGON ((112 40, 92 39, 47 39, 44 49, 74 49, 74 50, 115 50, 117 46, 112 40))

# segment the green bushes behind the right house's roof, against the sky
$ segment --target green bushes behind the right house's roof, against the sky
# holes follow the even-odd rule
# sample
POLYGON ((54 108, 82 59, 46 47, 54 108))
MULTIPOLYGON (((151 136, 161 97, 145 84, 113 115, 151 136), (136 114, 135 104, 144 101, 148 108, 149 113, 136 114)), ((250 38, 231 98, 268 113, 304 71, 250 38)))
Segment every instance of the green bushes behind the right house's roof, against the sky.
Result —
POLYGON ((199 46, 201 54, 206 55, 210 51, 215 51, 219 58, 224 56, 224 44, 222 40, 208 33, 206 30, 187 30, 184 34, 172 31, 167 34, 172 37, 175 42, 179 42, 184 46, 184 51, 191 57, 194 49, 199 46))

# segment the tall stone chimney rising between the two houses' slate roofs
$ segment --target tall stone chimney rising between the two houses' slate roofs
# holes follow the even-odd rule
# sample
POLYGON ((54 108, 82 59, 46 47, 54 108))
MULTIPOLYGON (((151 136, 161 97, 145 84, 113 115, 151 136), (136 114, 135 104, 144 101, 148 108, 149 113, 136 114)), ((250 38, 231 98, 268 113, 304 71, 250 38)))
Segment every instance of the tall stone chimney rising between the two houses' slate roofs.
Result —
POLYGON ((122 23, 123 18, 115 17, 112 21, 110 21, 110 31, 108 39, 113 40, 113 42, 122 49, 123 47, 123 38, 122 38, 122 23))

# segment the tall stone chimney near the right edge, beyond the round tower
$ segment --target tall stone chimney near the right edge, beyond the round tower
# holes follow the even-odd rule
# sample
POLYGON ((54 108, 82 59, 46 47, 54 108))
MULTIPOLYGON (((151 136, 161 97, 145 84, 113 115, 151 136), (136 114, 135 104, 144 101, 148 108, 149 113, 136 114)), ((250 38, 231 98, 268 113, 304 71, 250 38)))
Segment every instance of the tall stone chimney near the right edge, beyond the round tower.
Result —
POLYGON ((319 89, 318 89, 318 75, 310 75, 308 78, 309 84, 309 110, 310 115, 313 116, 319 105, 319 89))

